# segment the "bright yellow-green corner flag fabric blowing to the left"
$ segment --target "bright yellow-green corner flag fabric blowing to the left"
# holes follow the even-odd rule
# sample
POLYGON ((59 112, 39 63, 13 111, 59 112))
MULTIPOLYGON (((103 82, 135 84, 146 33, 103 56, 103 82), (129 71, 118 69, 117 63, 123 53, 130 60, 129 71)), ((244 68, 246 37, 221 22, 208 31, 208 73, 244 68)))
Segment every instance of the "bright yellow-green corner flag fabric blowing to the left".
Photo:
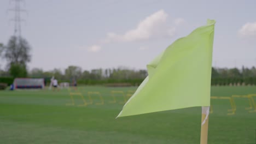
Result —
POLYGON ((180 38, 147 65, 148 77, 118 117, 210 106, 214 20, 180 38))

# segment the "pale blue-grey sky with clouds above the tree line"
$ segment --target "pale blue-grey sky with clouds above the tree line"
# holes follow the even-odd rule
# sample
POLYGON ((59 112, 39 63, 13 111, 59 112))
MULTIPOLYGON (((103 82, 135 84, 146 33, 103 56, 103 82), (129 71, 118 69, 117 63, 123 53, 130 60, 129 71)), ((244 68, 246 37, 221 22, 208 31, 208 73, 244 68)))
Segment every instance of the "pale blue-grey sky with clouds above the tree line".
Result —
MULTIPOLYGON (((146 69, 147 63, 207 19, 216 20, 213 67, 256 66, 256 1, 26 0, 21 35, 31 45, 28 69, 77 65, 146 69)), ((13 1, 0 1, 0 43, 14 34, 13 1)), ((0 60, 0 69, 6 62, 0 60)))

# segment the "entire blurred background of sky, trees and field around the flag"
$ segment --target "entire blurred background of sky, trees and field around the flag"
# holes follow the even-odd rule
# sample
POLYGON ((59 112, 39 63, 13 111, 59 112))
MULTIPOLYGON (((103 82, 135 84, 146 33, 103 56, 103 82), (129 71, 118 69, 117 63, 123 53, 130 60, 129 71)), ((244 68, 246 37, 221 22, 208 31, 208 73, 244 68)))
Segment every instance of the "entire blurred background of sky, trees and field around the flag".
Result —
POLYGON ((0 143, 200 143, 201 107, 115 117, 146 65, 207 19, 216 20, 208 143, 254 143, 255 5, 1 0, 0 143))

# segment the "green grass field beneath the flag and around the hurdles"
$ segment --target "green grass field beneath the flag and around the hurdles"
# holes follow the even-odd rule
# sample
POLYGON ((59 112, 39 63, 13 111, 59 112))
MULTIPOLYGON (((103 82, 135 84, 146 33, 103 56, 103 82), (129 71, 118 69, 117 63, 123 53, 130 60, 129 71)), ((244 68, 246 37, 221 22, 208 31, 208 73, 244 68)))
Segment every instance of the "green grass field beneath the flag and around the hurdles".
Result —
MULTIPOLYGON (((59 92, 0 91, 0 143, 200 143, 201 107, 149 113, 115 119, 123 104, 112 100, 110 91, 135 90, 136 87, 79 87, 80 92, 98 91, 104 105, 83 104, 67 89, 59 92)), ((185 90, 185 89, 184 89, 185 90)), ((256 87, 212 87, 212 96, 256 93, 256 87)), ((92 96, 99 102, 97 95, 92 96)), ((256 100, 256 97, 254 98, 256 100)), ((255 143, 256 113, 245 110, 248 99, 235 99, 237 111, 228 116, 228 100, 212 99, 208 143, 255 143)))

